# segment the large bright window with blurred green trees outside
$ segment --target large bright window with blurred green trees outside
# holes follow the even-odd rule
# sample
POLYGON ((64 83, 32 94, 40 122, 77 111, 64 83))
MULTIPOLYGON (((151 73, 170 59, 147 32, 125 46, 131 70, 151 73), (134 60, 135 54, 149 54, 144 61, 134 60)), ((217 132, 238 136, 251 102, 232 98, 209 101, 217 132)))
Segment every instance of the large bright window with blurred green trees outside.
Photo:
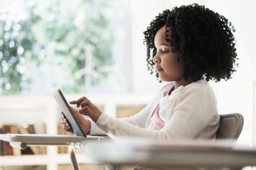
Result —
POLYGON ((2 1, 0 95, 126 92, 127 5, 2 1))

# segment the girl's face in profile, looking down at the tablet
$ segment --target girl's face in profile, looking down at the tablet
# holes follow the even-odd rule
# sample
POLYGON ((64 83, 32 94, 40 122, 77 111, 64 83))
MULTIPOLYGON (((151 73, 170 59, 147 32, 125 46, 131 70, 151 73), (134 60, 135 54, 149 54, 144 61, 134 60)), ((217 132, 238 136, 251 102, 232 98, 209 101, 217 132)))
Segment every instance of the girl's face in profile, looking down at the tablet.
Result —
MULTIPOLYGON (((170 28, 168 37, 170 38, 170 28)), ((153 58, 155 63, 155 69, 159 74, 162 81, 182 81, 183 68, 180 62, 178 62, 178 53, 173 53, 172 47, 169 42, 165 41, 166 26, 163 26, 158 30, 154 38, 154 44, 157 49, 157 53, 153 58)))

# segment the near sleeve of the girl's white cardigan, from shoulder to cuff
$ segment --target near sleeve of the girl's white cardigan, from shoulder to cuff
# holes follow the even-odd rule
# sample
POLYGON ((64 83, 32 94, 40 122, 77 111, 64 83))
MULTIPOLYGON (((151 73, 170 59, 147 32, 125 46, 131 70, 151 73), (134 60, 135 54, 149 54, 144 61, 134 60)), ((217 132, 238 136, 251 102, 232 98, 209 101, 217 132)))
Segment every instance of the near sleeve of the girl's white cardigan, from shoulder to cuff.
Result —
POLYGON ((176 101, 170 120, 161 130, 147 130, 102 113, 96 125, 108 136, 136 136, 168 141, 195 138, 212 120, 216 104, 202 90, 188 90, 176 101))

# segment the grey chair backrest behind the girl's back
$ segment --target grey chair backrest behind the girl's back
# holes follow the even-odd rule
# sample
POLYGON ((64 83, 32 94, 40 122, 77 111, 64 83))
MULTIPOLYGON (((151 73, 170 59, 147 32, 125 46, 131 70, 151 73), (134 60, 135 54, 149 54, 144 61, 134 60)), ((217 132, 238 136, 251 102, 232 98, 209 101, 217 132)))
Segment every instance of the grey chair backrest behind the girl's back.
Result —
POLYGON ((238 139, 243 126, 244 118, 239 113, 220 115, 216 139, 238 139))

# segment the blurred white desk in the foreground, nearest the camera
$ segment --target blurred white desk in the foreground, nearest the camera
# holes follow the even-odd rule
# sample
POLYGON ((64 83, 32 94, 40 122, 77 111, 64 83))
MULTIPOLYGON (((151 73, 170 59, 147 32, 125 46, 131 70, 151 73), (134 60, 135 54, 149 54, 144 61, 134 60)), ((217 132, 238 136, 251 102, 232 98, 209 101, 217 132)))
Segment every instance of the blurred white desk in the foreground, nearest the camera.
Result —
POLYGON ((92 144, 85 150, 93 160, 112 165, 137 164, 151 168, 195 166, 210 169, 256 166, 256 148, 211 142, 202 144, 196 144, 194 140, 170 144, 109 142, 92 144))

